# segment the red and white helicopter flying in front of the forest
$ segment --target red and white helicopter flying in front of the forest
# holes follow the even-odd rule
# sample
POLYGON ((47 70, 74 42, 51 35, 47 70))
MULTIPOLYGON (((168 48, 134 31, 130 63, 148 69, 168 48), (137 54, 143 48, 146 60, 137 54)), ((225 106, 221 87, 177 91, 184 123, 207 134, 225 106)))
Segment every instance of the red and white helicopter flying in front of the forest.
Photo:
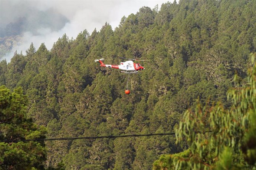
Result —
POLYGON ((144 67, 142 67, 140 65, 140 63, 135 63, 133 61, 147 61, 147 60, 141 60, 141 59, 133 59, 133 58, 124 58, 124 57, 115 57, 115 58, 120 58, 120 59, 129 59, 129 61, 125 61, 125 62, 121 62, 120 65, 108 65, 108 64, 104 64, 102 61, 104 60, 104 58, 101 59, 95 59, 94 61, 97 62, 99 61, 99 63, 101 64, 101 67, 109 67, 109 68, 116 68, 116 69, 122 69, 124 71, 124 73, 138 73, 138 71, 141 71, 143 69, 145 69, 144 67))

